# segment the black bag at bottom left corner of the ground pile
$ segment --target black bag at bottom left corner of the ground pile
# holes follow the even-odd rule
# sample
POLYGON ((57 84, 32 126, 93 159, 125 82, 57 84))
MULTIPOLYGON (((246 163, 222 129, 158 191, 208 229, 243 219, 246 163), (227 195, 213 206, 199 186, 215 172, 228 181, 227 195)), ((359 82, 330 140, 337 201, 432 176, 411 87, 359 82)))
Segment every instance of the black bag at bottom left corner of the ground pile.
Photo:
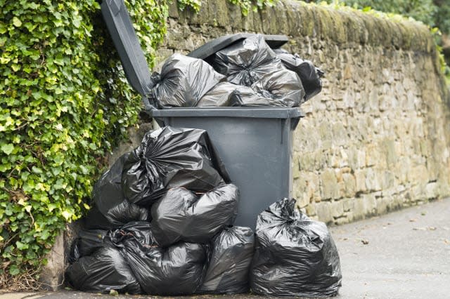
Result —
POLYGON ((116 248, 105 246, 79 258, 65 272, 70 285, 79 291, 139 294, 141 286, 116 248))

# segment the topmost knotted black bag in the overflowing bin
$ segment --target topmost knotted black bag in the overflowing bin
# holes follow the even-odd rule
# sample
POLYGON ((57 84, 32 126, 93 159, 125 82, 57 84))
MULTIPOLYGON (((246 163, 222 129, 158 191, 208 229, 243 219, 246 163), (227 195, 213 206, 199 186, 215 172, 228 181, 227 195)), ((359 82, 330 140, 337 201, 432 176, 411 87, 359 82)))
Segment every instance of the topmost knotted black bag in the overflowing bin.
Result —
POLYGON ((224 48, 214 58, 217 72, 224 74, 227 81, 244 86, 251 86, 264 74, 284 68, 261 34, 224 48))

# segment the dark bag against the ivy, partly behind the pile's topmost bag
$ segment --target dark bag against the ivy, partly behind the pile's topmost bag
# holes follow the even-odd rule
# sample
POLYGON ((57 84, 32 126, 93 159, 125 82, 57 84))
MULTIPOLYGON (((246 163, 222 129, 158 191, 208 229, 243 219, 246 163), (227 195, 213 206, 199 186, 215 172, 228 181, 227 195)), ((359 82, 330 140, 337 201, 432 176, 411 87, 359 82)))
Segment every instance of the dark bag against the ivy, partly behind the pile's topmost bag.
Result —
POLYGON ((128 157, 129 153, 117 159, 94 185, 94 207, 84 221, 87 228, 110 230, 133 220, 147 220, 148 210, 129 202, 122 190, 122 171, 128 157))

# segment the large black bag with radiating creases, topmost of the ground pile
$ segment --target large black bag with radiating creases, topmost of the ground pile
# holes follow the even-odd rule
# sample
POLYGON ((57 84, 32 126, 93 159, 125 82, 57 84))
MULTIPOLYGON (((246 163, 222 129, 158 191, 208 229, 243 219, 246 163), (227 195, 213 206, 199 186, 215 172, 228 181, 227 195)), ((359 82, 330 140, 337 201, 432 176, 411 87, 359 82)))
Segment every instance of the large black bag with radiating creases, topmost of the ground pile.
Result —
POLYGON ((158 200, 165 189, 186 187, 206 192, 229 181, 207 132, 166 126, 144 135, 122 171, 127 199, 140 206, 158 200))

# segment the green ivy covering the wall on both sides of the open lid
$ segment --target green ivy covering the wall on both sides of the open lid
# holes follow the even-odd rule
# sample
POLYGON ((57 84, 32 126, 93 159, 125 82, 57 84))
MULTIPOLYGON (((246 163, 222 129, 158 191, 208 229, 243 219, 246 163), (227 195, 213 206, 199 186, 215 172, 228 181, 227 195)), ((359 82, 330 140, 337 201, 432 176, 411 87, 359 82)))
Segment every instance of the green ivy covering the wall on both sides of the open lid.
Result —
MULTIPOLYGON (((152 65, 167 5, 127 5, 152 65)), ((136 122, 141 100, 97 1, 0 0, 0 7, 0 284, 7 284, 39 268, 65 223, 89 208, 101 157, 136 122)))

